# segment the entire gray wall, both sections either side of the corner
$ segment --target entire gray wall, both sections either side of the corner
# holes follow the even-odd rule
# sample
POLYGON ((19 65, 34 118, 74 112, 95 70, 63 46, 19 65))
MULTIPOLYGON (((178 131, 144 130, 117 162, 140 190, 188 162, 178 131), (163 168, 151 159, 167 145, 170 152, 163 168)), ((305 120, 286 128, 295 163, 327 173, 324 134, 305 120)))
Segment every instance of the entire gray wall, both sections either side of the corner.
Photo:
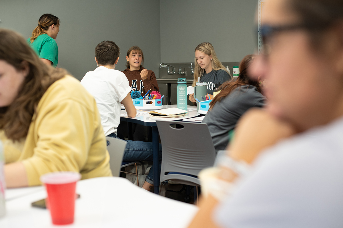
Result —
POLYGON ((212 43, 222 62, 252 53, 256 5, 257 0, 1 0, 0 27, 28 38, 40 15, 51 13, 61 20, 58 67, 79 80, 96 68, 94 48, 103 40, 121 49, 116 69, 126 68, 126 52, 137 45, 144 67, 158 77, 161 62, 193 62, 201 42, 212 43))

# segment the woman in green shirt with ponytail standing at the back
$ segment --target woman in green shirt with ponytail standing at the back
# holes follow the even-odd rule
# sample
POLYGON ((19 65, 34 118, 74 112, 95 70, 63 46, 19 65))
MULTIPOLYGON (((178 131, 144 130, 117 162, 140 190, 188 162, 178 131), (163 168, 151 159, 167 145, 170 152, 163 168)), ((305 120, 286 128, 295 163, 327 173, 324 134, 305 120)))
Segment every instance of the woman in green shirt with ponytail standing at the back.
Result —
POLYGON ((38 20, 38 26, 32 31, 27 43, 37 53, 40 60, 48 66, 58 64, 58 46, 55 41, 60 31, 60 19, 52 14, 43 14, 38 20))

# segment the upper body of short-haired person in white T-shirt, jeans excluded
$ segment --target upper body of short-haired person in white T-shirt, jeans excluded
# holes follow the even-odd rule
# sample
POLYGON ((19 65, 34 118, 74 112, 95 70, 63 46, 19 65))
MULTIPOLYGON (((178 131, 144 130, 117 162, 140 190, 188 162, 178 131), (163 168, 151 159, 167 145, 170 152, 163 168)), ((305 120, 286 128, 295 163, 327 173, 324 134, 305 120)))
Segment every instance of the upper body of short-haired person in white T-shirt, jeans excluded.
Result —
POLYGON ((117 133, 120 122, 120 102, 128 117, 136 116, 126 76, 116 70, 119 47, 113 41, 103 41, 95 48, 95 62, 99 66, 82 78, 81 84, 92 94, 101 116, 105 136, 117 133))

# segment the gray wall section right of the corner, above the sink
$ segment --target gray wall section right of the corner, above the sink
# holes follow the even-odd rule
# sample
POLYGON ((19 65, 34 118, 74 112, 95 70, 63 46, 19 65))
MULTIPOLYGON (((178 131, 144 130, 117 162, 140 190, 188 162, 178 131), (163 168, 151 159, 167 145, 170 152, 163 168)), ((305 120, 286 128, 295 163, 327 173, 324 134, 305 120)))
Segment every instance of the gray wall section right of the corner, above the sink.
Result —
POLYGON ((160 0, 161 62, 193 62, 202 42, 221 62, 240 62, 257 47, 256 6, 257 0, 160 0))

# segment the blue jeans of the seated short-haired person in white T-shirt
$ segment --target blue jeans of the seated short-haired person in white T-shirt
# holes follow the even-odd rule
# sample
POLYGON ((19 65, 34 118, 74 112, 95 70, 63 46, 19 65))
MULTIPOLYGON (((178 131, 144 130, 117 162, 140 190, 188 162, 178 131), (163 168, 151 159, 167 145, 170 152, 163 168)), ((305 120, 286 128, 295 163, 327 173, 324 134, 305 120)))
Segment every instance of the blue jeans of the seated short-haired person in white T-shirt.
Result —
MULTIPOLYGON (((109 137, 118 138, 115 133, 107 135, 109 137)), ((118 138, 119 139, 119 138, 118 138)), ((152 161, 152 143, 143 141, 132 141, 125 140, 127 142, 123 161, 152 161)), ((158 155, 159 155, 159 170, 161 171, 162 161, 162 145, 158 144, 158 155)), ((149 174, 145 181, 153 184, 154 171, 153 167, 150 168, 149 174)))

